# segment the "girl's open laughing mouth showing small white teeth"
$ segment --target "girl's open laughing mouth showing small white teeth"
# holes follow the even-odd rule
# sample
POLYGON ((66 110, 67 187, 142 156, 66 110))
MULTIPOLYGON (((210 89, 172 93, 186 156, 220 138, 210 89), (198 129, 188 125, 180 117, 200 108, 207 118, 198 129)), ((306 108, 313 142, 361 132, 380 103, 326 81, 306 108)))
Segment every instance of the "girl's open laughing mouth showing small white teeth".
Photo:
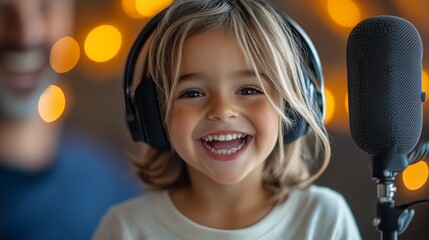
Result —
POLYGON ((243 133, 210 134, 200 138, 200 142, 211 156, 228 160, 237 157, 251 138, 252 136, 243 133))

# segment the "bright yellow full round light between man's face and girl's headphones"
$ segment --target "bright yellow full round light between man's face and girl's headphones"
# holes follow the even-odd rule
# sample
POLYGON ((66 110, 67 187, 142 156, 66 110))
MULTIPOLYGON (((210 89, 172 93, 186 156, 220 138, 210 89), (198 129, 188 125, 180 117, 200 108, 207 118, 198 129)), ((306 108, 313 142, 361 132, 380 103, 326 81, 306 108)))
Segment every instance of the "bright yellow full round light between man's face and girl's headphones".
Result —
POLYGON ((95 62, 106 62, 116 56, 121 48, 122 36, 110 25, 94 28, 85 39, 85 53, 95 62))

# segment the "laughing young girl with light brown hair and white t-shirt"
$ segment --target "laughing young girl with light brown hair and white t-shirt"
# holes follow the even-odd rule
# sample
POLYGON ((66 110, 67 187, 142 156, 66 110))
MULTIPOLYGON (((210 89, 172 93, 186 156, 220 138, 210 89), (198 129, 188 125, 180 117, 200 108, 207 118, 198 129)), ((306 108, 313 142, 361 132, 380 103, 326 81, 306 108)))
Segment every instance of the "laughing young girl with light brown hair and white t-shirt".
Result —
POLYGON ((328 136, 299 46, 263 0, 173 2, 147 67, 171 151, 145 146, 153 191, 113 208, 94 239, 360 239, 345 200, 311 185, 328 136), (289 144, 285 105, 310 125, 289 144))

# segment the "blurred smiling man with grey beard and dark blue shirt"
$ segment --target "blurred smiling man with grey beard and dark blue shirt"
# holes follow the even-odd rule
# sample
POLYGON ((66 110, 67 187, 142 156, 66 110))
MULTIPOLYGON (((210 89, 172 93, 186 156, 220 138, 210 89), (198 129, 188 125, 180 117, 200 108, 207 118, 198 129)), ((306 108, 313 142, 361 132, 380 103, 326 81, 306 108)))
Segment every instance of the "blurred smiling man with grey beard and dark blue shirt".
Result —
POLYGON ((50 47, 72 32, 73 10, 73 0, 0 0, 2 240, 87 240, 107 208, 140 192, 112 148, 38 115, 57 77, 50 47))

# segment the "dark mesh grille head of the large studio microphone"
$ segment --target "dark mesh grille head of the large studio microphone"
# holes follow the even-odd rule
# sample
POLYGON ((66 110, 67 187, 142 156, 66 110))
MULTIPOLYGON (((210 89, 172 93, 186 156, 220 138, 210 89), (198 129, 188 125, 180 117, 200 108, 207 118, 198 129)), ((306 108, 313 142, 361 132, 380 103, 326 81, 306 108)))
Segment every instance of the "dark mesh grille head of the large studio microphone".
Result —
POLYGON ((422 43, 394 16, 359 23, 347 42, 350 131, 369 154, 408 153, 422 130, 422 43))

